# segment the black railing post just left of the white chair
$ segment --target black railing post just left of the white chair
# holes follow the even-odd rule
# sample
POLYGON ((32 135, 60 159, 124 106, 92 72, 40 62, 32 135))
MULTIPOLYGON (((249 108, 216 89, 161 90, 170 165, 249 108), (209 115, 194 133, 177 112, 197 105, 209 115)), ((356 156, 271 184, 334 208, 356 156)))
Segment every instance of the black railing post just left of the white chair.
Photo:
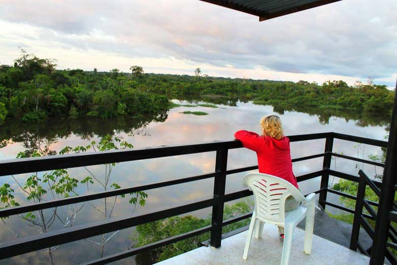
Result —
POLYGON ((226 186, 226 166, 228 165, 228 150, 216 151, 214 204, 212 206, 211 246, 220 247, 222 237, 224 191, 226 186))

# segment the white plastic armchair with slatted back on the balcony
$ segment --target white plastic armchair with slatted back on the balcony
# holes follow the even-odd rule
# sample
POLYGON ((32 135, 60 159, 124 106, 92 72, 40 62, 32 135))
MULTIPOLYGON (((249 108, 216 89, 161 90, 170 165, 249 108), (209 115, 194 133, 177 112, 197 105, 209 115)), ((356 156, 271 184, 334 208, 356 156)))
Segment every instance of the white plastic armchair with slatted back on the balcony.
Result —
POLYGON ((251 223, 249 224, 243 258, 247 259, 252 233, 255 232, 255 238, 261 238, 263 223, 269 223, 285 228, 281 265, 288 265, 294 228, 305 216, 304 251, 306 254, 310 254, 313 238, 315 194, 311 193, 305 198, 288 181, 280 179, 277 176, 262 173, 246 174, 243 184, 252 190, 255 201, 255 209, 252 213, 251 223), (284 210, 285 202, 290 195, 297 201, 306 203, 306 207, 299 206, 297 209, 287 212, 286 215, 284 210))

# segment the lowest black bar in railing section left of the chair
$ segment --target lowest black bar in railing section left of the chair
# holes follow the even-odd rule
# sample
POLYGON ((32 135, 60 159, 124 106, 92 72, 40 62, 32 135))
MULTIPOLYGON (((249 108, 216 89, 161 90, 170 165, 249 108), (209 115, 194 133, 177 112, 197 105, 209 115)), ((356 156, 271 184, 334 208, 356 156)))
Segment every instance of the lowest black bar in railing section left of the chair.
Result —
POLYGON ((80 265, 102 265, 102 264, 107 264, 110 262, 114 262, 120 259, 124 259, 124 258, 128 258, 130 256, 134 256, 136 254, 148 251, 148 250, 152 250, 152 249, 156 249, 159 247, 163 247, 166 246, 168 244, 172 244, 187 238, 191 238, 194 237, 194 235, 198 235, 198 234, 203 234, 205 232, 209 232, 211 231, 211 225, 205 226, 203 228, 199 228, 187 233, 183 233, 183 234, 179 234, 179 235, 175 235, 174 237, 171 238, 167 238, 167 239, 163 239, 154 243, 150 243, 148 245, 145 246, 141 246, 141 247, 137 247, 137 248, 133 248, 133 249, 129 249, 120 253, 116 253, 113 255, 109 255, 109 256, 105 256, 103 258, 98 258, 95 260, 91 260, 89 262, 86 263, 81 263, 80 265))

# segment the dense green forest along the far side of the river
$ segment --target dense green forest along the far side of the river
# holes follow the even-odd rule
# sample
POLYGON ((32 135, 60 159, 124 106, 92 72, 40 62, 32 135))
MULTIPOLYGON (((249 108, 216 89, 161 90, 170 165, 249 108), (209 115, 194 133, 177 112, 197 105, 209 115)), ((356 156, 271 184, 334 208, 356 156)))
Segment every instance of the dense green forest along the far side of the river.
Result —
POLYGON ((22 50, 14 66, 0 66, 0 123, 7 118, 36 122, 46 117, 139 117, 167 110, 171 99, 236 104, 253 101, 277 109, 296 107, 351 109, 389 116, 393 91, 385 85, 342 80, 319 85, 307 81, 272 81, 201 75, 147 74, 81 69, 56 70, 56 61, 22 50))

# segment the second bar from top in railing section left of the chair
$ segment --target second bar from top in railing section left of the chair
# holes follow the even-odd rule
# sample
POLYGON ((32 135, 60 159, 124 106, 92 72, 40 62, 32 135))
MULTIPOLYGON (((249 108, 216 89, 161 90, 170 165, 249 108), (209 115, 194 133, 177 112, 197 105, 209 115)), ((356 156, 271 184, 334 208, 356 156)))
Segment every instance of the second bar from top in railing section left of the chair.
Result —
POLYGON ((161 188, 161 187, 167 187, 167 186, 172 186, 172 185, 177 185, 177 184, 182 184, 182 183, 187 183, 187 182, 192 182, 192 181, 205 180, 205 179, 213 178, 217 174, 219 174, 219 173, 213 172, 213 173, 208 173, 208 174, 203 174, 203 175, 191 176, 189 178, 184 178, 184 179, 179 179, 179 180, 159 182, 159 183, 148 184, 148 185, 143 185, 143 186, 138 186, 138 187, 123 188, 123 189, 116 189, 116 190, 110 190, 110 191, 102 191, 102 192, 97 192, 97 193, 88 194, 88 195, 73 196, 73 197, 68 197, 68 198, 64 198, 64 199, 50 200, 50 201, 39 202, 36 204, 31 204, 31 205, 20 206, 20 207, 6 208, 3 210, 0 210, 0 218, 10 216, 10 215, 16 215, 16 214, 22 214, 22 213, 42 210, 42 209, 59 207, 62 205, 68 205, 68 204, 72 204, 72 203, 78 203, 78 202, 83 202, 83 201, 118 196, 118 195, 123 195, 123 194, 137 192, 137 191, 157 189, 157 188, 161 188))

